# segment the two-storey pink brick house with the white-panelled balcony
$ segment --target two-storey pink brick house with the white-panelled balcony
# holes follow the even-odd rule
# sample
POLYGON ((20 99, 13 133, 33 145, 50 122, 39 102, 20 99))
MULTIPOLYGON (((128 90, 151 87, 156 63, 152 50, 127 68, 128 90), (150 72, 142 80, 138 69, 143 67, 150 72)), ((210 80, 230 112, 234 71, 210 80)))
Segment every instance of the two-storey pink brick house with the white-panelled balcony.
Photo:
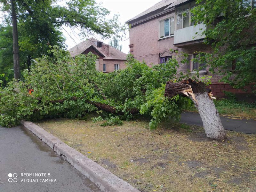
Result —
MULTIPOLYGON (((130 53, 151 67, 177 55, 170 49, 178 50, 187 53, 189 60, 188 64, 180 63, 178 72, 193 74, 195 69, 200 68, 200 76, 212 75, 205 63, 191 60, 200 57, 196 52, 212 52, 210 45, 203 44, 205 36, 200 29, 206 29, 206 26, 200 23, 195 27, 190 21, 190 9, 195 6, 194 0, 162 0, 128 20, 126 23, 131 25, 130 53)), ((220 83, 220 78, 218 74, 212 75, 212 92, 217 97, 225 97, 223 91, 236 93, 238 99, 245 99, 248 93, 252 93, 251 86, 246 87, 248 91, 244 92, 220 83)))

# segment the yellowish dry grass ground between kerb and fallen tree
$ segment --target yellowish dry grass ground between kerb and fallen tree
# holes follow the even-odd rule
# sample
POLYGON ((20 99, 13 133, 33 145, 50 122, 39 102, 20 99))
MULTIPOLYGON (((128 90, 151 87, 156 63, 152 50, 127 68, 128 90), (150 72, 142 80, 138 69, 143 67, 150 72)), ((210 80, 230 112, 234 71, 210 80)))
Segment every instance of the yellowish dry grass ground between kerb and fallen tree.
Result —
POLYGON ((217 142, 185 124, 151 131, 147 120, 102 123, 89 116, 37 124, 140 191, 256 191, 256 135, 227 132, 217 142))

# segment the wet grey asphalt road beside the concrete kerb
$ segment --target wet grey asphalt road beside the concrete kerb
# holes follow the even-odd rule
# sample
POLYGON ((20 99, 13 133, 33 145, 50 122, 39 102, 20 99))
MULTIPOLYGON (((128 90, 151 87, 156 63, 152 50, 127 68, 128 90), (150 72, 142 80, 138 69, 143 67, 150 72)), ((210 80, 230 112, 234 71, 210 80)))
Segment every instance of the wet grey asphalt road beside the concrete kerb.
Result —
POLYGON ((100 190, 25 127, 0 127, 0 192, 58 191, 100 190))

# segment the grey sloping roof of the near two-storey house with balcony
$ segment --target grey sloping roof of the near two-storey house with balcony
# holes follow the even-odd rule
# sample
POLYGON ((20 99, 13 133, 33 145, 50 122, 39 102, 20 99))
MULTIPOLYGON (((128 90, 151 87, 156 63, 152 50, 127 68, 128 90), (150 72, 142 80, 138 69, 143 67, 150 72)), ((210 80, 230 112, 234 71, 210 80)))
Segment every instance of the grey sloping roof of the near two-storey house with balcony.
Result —
POLYGON ((136 15, 132 19, 126 21, 126 23, 128 23, 129 21, 135 20, 139 17, 142 17, 144 15, 147 15, 148 13, 151 13, 151 12, 156 11, 158 9, 164 8, 168 5, 169 6, 166 7, 164 10, 170 9, 170 8, 172 8, 176 5, 182 4, 186 1, 188 1, 188 0, 162 0, 162 1, 158 2, 157 4, 153 5, 152 7, 148 8, 146 11, 144 11, 144 12, 140 13, 139 15, 136 15))

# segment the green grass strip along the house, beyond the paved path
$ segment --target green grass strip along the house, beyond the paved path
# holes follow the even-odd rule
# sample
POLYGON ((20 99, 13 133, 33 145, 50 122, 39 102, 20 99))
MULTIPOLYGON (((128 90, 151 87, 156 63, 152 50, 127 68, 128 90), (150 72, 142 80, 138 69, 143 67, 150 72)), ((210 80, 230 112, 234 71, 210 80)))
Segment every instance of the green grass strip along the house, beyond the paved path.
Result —
MULTIPOLYGON (((221 116, 256 119, 256 103, 230 99, 218 99, 214 100, 214 104, 221 116)), ((185 110, 198 112, 194 106, 186 108, 185 110)))

